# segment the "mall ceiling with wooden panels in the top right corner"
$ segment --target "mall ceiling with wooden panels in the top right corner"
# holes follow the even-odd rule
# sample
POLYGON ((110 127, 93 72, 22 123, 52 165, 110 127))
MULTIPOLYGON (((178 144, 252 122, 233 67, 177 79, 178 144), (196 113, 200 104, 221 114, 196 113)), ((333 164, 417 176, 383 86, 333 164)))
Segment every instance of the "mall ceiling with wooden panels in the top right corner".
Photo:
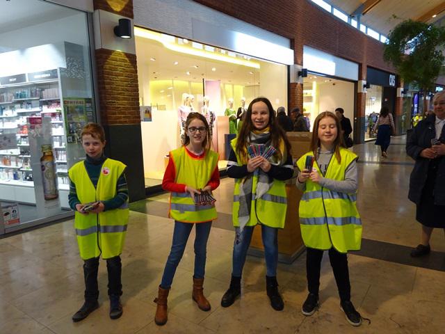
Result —
MULTIPOLYGON (((366 3, 366 0, 325 0, 330 5, 351 15, 366 3)), ((371 1, 371 0, 370 0, 371 1)), ((368 13, 360 17, 362 24, 384 35, 406 19, 419 19, 434 8, 442 8, 437 17, 429 17, 426 22, 433 23, 445 17, 444 0, 381 0, 368 13)))

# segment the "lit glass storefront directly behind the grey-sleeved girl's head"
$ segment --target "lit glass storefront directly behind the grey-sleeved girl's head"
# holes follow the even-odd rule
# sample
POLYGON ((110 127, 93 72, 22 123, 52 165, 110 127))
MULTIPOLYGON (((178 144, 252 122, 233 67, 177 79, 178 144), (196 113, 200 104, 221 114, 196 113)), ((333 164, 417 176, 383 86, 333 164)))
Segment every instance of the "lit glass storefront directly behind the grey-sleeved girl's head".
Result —
MULTIPOLYGON (((343 108, 351 125, 354 120, 354 83, 309 73, 303 81, 303 115, 312 131, 314 120, 323 111, 343 108)), ((351 134, 351 136, 353 136, 351 134)))

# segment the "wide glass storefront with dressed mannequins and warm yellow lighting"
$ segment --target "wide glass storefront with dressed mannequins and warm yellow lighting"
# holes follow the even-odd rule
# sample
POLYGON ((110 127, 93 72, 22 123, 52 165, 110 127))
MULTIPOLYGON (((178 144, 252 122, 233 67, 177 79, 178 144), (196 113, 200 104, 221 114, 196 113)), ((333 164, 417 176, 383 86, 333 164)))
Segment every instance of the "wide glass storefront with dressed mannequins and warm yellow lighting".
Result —
POLYGON ((161 184, 189 112, 206 116, 225 168, 227 141, 239 121, 230 125, 230 118, 258 96, 287 110, 286 65, 138 27, 135 38, 146 186, 161 184))

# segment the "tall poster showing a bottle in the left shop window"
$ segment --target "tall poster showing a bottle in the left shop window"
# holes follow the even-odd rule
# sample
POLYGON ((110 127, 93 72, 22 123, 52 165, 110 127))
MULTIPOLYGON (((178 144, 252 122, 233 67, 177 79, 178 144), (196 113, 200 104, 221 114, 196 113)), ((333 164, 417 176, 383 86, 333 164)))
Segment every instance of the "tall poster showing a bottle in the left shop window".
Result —
POLYGON ((38 217, 59 214, 60 198, 51 135, 51 117, 31 116, 27 118, 27 123, 38 217))

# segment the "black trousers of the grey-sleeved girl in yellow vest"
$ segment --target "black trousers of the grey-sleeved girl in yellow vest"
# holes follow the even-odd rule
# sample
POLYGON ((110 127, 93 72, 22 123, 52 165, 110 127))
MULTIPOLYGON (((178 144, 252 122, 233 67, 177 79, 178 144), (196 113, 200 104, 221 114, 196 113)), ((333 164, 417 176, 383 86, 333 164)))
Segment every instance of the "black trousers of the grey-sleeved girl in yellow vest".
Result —
MULTIPOLYGON (((329 250, 329 260, 332 271, 334 271, 335 282, 339 289, 340 299, 342 301, 350 300, 350 283, 348 271, 348 255, 339 253, 334 248, 329 250)), ((320 288, 320 268, 323 250, 307 248, 306 249, 306 275, 307 289, 310 293, 318 296, 320 288)))

